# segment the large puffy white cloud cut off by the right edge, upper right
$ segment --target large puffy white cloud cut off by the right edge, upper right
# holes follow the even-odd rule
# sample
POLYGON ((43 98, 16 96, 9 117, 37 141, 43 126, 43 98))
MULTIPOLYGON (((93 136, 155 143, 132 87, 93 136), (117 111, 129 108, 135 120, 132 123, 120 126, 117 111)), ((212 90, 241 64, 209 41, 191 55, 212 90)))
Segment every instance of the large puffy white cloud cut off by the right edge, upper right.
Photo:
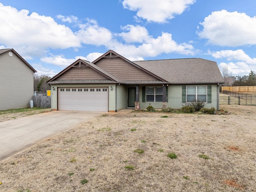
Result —
POLYGON ((256 44, 256 17, 226 10, 212 12, 200 23, 204 28, 198 32, 200 38, 220 46, 242 46, 256 44))

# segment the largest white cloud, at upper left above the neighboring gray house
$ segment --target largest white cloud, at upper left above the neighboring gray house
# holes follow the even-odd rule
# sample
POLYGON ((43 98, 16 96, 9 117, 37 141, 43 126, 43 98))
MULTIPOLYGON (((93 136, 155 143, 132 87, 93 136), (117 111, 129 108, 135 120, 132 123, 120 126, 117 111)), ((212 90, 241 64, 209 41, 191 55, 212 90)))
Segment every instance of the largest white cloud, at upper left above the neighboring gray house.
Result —
MULTIPOLYGON (((18 11, 0 3, 0 42, 10 48, 46 52, 48 48, 80 47, 80 40, 70 28, 49 16, 28 10, 18 11)), ((33 54, 31 52, 31 54, 33 54)))

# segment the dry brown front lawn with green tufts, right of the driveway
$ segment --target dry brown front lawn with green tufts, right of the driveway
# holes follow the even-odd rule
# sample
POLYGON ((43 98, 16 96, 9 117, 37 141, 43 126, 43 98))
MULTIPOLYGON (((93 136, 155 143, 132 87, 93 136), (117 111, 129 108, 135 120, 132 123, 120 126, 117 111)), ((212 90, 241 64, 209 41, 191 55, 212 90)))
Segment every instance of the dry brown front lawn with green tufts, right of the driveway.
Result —
POLYGON ((2 160, 0 191, 256 191, 256 107, 221 108, 99 116, 2 160))

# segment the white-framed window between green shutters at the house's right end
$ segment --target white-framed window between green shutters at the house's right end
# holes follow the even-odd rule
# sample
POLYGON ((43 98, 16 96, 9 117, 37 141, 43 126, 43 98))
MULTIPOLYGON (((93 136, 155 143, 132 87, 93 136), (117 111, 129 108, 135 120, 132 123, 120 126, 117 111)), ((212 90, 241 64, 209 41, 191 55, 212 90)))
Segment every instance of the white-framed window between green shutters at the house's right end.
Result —
POLYGON ((187 86, 186 102, 207 102, 207 86, 187 86))

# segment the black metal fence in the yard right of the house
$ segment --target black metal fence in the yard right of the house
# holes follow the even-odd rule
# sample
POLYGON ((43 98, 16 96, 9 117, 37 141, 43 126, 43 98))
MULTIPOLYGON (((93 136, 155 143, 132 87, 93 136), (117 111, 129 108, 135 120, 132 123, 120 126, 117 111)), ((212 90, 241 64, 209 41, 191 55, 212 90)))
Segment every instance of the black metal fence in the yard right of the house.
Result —
POLYGON ((220 104, 228 105, 256 105, 256 95, 237 93, 233 91, 222 91, 227 96, 220 96, 220 104))

